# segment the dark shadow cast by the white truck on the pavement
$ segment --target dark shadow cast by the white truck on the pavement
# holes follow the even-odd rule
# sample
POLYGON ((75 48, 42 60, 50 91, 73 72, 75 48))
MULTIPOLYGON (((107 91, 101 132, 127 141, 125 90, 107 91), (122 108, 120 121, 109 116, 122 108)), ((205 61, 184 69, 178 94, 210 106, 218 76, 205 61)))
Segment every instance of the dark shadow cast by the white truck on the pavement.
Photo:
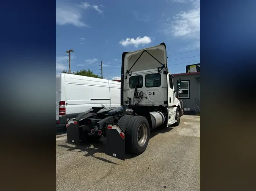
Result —
MULTIPOLYGON (((171 128, 171 127, 153 129, 152 131, 150 131, 150 138, 149 139, 151 139, 152 137, 156 136, 159 133, 169 132, 172 129, 173 128, 171 128)), ((66 143, 68 143, 70 145, 74 145, 74 144, 69 143, 67 141, 66 141, 66 143)), ((102 160, 102 161, 107 162, 107 163, 112 163, 112 164, 119 165, 118 163, 112 162, 110 160, 94 156, 94 154, 96 154, 96 153, 105 153, 105 149, 106 149, 106 139, 105 139, 105 137, 102 137, 100 140, 98 140, 96 142, 93 142, 91 144, 81 143, 81 145, 74 145, 74 147, 69 146, 69 145, 58 145, 58 146, 66 148, 67 151, 73 151, 73 150, 77 149, 77 150, 79 150, 78 152, 87 152, 83 156, 85 156, 85 157, 91 156, 91 157, 94 157, 96 159, 102 160)), ((133 157, 136 157, 136 156, 137 155, 126 153, 125 159, 132 159, 133 157)))

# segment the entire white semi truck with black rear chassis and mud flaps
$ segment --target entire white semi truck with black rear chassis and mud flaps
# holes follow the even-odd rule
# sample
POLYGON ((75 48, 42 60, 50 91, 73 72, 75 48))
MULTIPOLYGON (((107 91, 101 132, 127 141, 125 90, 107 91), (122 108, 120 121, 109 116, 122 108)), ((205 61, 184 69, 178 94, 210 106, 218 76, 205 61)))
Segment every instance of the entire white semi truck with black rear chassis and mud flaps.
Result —
POLYGON ((68 142, 98 140, 106 137, 105 154, 125 159, 125 152, 142 154, 150 131, 178 126, 183 115, 181 79, 173 86, 173 75, 166 63, 165 43, 124 52, 121 68, 121 107, 92 108, 79 115, 66 115, 68 142))

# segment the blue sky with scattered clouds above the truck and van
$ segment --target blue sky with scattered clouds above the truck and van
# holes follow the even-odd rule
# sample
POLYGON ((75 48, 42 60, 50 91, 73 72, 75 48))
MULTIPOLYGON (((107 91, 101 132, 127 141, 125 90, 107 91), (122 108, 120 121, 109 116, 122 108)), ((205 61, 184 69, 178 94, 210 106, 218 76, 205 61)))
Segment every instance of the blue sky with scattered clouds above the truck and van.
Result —
POLYGON ((56 73, 90 69, 104 79, 121 76, 123 52, 168 48, 171 74, 200 63, 199 0, 56 0, 56 73))

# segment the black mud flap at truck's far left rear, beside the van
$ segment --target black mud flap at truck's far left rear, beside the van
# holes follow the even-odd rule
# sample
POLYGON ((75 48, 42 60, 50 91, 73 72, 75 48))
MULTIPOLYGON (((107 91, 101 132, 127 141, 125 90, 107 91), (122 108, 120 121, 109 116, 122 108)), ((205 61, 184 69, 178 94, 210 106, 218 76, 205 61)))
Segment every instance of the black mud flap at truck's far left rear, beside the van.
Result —
POLYGON ((80 145, 80 131, 77 122, 72 119, 69 119, 66 127, 68 142, 73 143, 75 145, 80 145))

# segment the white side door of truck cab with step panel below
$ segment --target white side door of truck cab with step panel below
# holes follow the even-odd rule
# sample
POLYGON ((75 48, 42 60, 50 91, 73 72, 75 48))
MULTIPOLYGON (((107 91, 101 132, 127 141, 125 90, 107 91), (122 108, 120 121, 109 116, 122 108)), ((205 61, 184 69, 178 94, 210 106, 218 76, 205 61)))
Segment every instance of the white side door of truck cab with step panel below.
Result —
POLYGON ((175 114, 176 114, 176 107, 173 107, 176 105, 176 97, 175 97, 175 92, 174 92, 174 87, 173 87, 173 78, 171 74, 168 74, 168 95, 169 95, 169 100, 168 100, 168 110, 169 110, 169 119, 168 122, 171 122, 172 120, 175 119, 175 114))

